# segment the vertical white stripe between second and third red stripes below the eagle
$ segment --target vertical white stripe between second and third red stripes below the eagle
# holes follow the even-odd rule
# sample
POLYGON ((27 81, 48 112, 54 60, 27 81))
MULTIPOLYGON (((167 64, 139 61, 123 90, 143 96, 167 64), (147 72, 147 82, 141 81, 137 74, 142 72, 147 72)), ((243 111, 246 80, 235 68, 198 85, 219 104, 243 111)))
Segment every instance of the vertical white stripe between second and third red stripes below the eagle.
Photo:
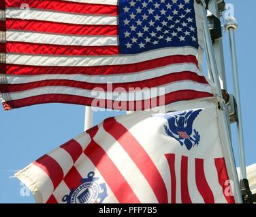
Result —
POLYGON ((202 195, 200 195, 195 181, 195 159, 193 157, 188 157, 187 182, 192 203, 204 203, 204 199, 202 198, 202 195))

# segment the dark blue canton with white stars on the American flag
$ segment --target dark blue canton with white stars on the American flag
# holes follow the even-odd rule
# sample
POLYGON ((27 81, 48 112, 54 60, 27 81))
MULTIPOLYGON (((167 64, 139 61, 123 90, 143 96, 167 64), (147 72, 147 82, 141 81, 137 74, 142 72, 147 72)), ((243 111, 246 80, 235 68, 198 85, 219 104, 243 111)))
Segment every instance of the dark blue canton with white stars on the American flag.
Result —
POLYGON ((194 0, 121 0, 121 54, 138 54, 162 47, 198 48, 193 5, 194 0))

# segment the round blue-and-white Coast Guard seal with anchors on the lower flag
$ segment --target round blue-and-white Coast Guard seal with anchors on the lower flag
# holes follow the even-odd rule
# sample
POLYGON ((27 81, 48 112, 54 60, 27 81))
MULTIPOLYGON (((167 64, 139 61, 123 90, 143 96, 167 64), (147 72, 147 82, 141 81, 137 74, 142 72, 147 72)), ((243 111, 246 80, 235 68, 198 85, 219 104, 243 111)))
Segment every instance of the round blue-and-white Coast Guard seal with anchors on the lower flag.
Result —
POLYGON ((99 178, 94 177, 94 172, 89 172, 87 178, 82 178, 80 186, 71 189, 69 195, 62 199, 66 203, 102 203, 108 196, 106 183, 97 184, 99 178))

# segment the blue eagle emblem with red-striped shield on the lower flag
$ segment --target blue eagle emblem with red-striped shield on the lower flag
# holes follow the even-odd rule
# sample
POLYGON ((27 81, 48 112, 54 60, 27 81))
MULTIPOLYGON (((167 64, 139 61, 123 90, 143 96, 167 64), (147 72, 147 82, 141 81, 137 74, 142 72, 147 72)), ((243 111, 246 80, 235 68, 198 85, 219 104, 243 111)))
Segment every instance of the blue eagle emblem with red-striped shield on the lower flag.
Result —
POLYGON ((168 125, 164 125, 165 133, 175 138, 180 145, 185 144, 188 150, 193 146, 198 146, 200 142, 199 132, 193 129, 193 122, 202 109, 188 111, 174 111, 164 115, 159 114, 158 117, 167 119, 168 125))

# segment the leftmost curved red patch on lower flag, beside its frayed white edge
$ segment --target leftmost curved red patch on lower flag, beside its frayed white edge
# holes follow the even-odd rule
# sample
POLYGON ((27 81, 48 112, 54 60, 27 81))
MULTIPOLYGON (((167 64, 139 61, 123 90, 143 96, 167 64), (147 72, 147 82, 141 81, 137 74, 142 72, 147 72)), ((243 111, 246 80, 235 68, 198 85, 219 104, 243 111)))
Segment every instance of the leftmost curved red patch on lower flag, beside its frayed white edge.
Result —
POLYGON ((37 165, 37 167, 40 167, 42 170, 44 170, 46 174, 48 174, 52 180, 52 184, 55 190, 64 177, 63 170, 59 163, 48 155, 44 155, 33 163, 37 165))

